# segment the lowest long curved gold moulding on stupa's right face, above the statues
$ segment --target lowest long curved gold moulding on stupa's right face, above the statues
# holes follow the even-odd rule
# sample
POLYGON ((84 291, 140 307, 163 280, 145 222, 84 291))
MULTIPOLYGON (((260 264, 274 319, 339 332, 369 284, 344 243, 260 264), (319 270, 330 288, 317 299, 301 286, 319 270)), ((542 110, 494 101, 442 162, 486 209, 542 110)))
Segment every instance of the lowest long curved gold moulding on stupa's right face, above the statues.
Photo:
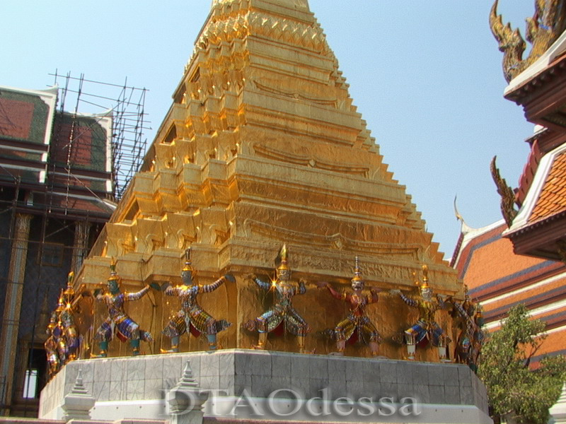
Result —
POLYGON ((246 219, 244 228, 248 235, 255 233, 262 235, 270 240, 279 242, 294 242, 299 245, 309 245, 320 247, 322 249, 345 249, 350 252, 364 252, 374 254, 381 257, 395 257, 398 259, 411 259, 417 261, 419 259, 420 245, 403 245, 395 246, 386 243, 363 242, 356 239, 350 239, 338 233, 334 235, 316 235, 307 232, 299 232, 289 230, 288 228, 277 227, 261 223, 257 220, 246 219))

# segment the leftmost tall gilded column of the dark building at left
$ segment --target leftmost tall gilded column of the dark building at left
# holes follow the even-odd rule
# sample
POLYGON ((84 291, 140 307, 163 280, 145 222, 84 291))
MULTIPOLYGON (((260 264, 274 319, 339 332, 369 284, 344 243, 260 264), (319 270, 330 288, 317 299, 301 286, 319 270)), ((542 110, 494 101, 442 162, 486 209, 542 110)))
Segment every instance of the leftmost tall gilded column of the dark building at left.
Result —
POLYGON ((6 406, 2 410, 1 415, 6 415, 9 412, 12 401, 13 370, 16 358, 16 343, 18 341, 25 261, 28 257, 31 218, 31 215, 24 213, 16 215, 15 235, 13 237, 6 300, 4 302, 4 316, 2 317, 3 325, 0 334, 0 346, 3 346, 4 352, 8 353, 0 357, 0 377, 4 377, 5 382, 2 403, 6 406))

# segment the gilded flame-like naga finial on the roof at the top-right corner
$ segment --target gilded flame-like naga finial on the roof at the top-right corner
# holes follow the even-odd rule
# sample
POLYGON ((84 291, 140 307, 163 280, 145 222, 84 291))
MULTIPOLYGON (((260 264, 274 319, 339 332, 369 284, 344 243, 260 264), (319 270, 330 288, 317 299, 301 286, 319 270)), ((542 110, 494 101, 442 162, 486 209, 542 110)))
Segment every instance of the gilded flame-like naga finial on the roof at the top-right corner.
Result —
POLYGON ((499 0, 495 0, 491 8, 490 28, 499 42, 499 50, 504 52, 503 74, 509 83, 541 57, 566 29, 566 0, 535 1, 535 13, 526 19, 525 38, 532 45, 526 59, 523 59, 526 42, 519 29, 512 30, 509 23, 503 25, 502 16, 497 15, 498 3, 499 0))

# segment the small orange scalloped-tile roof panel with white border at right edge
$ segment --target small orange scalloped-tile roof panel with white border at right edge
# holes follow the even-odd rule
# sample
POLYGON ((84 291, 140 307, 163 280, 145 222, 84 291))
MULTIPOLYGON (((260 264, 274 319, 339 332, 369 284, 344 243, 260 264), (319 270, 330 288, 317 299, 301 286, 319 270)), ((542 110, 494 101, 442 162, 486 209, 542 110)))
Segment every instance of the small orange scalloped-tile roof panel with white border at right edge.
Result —
POLYGON ((548 218, 555 213, 566 209, 566 153, 558 155, 546 181, 541 194, 538 196, 533 208, 529 223, 548 218))

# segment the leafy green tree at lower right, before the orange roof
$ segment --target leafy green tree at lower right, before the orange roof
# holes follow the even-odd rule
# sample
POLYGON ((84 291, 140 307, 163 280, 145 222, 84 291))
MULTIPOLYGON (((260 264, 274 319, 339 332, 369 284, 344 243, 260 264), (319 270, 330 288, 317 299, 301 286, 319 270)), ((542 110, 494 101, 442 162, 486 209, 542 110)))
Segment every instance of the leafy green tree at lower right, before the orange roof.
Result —
POLYGON ((496 423, 501 416, 516 423, 547 422, 548 408, 558 400, 566 377, 566 358, 546 357, 540 367, 529 369, 546 338, 544 329, 545 323, 529 319, 529 311, 519 304, 483 346, 478 374, 496 423))

